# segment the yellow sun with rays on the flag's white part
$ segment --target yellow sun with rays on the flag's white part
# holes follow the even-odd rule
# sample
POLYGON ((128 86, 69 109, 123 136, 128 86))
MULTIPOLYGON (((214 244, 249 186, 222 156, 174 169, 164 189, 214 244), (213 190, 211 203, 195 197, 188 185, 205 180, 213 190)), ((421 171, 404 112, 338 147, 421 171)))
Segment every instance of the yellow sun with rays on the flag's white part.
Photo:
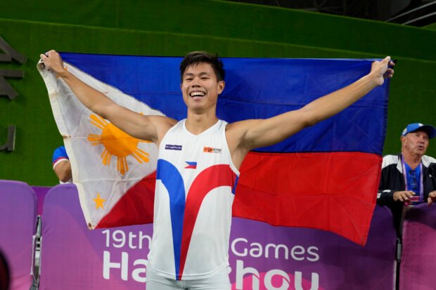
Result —
POLYGON ((89 134, 88 140, 91 145, 103 144, 105 150, 101 153, 104 165, 110 165, 112 155, 117 157, 117 171, 124 175, 129 171, 126 157, 132 155, 139 163, 149 162, 150 154, 138 148, 139 142, 150 143, 149 141, 134 138, 115 127, 102 117, 91 114, 91 124, 101 128, 101 135, 89 134))

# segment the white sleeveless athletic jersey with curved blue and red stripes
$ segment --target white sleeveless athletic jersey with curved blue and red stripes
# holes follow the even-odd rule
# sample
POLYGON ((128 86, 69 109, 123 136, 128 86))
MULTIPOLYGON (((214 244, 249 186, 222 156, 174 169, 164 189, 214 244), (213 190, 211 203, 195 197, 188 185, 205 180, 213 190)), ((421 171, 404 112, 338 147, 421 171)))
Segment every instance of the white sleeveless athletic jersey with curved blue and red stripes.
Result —
POLYGON ((239 171, 219 120, 193 135, 185 120, 159 147, 148 263, 170 279, 203 279, 229 265, 231 206, 239 171))

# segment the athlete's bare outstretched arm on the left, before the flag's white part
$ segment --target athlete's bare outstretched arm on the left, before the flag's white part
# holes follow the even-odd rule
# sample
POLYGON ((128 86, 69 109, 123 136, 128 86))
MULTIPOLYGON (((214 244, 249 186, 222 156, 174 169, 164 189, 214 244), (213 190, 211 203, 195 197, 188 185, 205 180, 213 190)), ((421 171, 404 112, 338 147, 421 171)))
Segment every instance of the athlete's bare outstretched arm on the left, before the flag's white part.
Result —
POLYGON ((44 65, 58 74, 71 88, 79 101, 92 112, 108 119, 130 136, 159 143, 166 131, 175 124, 174 119, 162 116, 143 116, 117 105, 103 93, 80 81, 63 67, 63 60, 56 51, 40 55, 44 65))

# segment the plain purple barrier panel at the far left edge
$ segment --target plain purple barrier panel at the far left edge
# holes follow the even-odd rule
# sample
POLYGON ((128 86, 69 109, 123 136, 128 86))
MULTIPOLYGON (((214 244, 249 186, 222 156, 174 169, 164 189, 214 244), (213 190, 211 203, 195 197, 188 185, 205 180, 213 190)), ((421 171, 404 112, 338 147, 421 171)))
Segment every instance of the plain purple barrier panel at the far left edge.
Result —
POLYGON ((0 249, 11 269, 11 290, 28 290, 32 283, 32 235, 37 198, 20 181, 0 180, 0 249))

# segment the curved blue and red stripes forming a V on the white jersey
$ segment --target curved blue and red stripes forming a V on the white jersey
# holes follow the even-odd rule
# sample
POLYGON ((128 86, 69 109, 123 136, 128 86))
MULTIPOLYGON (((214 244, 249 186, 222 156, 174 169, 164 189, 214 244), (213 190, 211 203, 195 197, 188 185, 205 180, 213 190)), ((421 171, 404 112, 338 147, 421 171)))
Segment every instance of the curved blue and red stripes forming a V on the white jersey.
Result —
POLYGON ((185 195, 184 180, 177 168, 164 159, 158 160, 156 180, 161 180, 169 195, 174 266, 176 279, 180 280, 191 243, 198 211, 207 193, 221 186, 236 186, 236 174, 228 164, 217 164, 201 171, 185 195))

